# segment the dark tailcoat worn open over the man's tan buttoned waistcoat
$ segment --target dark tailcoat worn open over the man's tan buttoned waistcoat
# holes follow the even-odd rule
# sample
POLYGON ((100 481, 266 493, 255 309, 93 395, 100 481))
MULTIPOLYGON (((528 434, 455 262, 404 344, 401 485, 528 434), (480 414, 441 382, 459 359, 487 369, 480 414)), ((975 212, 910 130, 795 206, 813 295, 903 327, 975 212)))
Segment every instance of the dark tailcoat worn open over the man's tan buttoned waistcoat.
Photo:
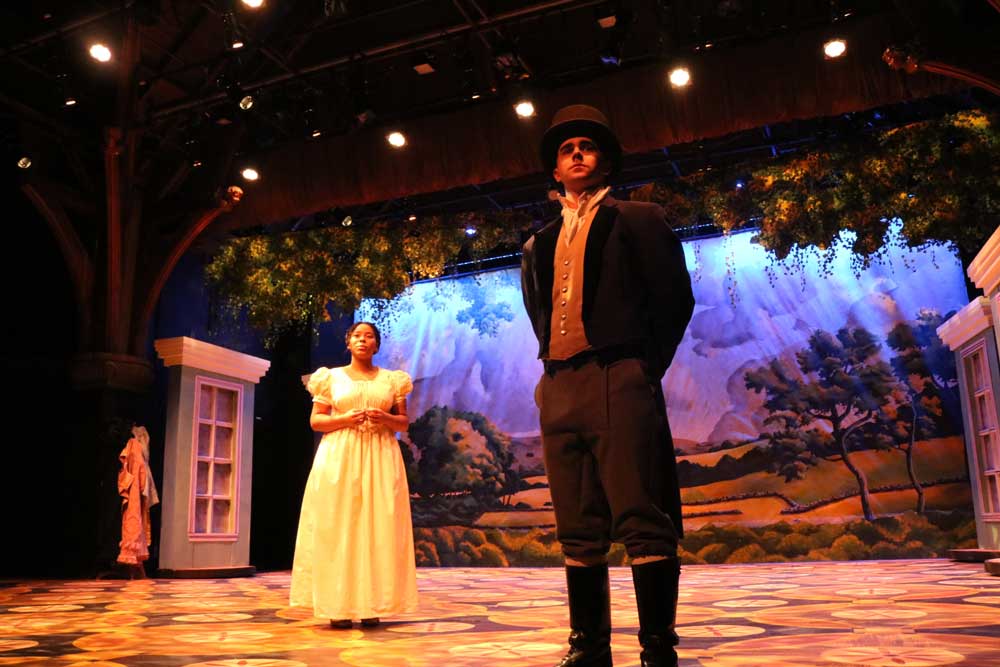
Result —
MULTIPOLYGON (((521 291, 538 337, 549 349, 553 261, 562 217, 524 245, 521 291)), ((605 197, 587 236, 583 260, 583 326, 594 349, 638 344, 651 376, 662 378, 694 311, 680 239, 663 209, 605 197)))

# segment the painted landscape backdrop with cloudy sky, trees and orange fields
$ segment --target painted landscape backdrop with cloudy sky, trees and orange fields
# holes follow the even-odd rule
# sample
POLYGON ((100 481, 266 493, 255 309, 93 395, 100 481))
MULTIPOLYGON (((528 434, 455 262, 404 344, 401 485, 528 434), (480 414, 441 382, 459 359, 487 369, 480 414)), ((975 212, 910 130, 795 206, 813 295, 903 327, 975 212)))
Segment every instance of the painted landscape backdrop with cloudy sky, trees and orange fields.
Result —
MULTIPOLYGON (((773 264, 751 234, 685 243, 696 307, 663 381, 689 563, 974 546, 952 353, 968 299, 946 249, 844 245, 773 264)), ((414 378, 407 462, 422 565, 560 564, 537 343, 516 269, 420 283, 378 314, 414 378)), ((620 545, 612 562, 621 563, 620 545)))

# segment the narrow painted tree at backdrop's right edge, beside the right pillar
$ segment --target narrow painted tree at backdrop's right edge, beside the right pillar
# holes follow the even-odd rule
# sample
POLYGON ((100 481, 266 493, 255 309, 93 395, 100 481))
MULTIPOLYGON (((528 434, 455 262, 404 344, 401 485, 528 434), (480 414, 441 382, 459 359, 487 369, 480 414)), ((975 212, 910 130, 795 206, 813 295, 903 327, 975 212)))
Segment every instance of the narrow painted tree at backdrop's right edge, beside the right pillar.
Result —
POLYGON ((884 429, 891 446, 906 454, 906 473, 921 513, 926 501, 913 466, 916 445, 960 430, 955 355, 937 335, 938 326, 952 314, 942 317, 937 311, 922 310, 916 320, 893 327, 886 338, 896 351, 891 363, 900 395, 894 408, 883 415, 884 429))

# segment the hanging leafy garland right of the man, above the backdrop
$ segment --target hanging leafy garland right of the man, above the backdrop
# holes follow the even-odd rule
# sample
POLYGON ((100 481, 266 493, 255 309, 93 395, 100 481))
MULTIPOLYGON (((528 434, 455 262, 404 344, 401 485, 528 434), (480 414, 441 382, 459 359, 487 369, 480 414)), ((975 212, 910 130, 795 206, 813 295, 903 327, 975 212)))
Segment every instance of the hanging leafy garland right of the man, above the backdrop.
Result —
POLYGON ((672 219, 724 231, 753 221, 755 241, 778 260, 833 247, 850 230, 867 264, 885 250, 894 218, 910 247, 954 244, 972 256, 1000 223, 998 149, 1000 118, 964 111, 788 160, 657 182, 644 198, 672 219))

